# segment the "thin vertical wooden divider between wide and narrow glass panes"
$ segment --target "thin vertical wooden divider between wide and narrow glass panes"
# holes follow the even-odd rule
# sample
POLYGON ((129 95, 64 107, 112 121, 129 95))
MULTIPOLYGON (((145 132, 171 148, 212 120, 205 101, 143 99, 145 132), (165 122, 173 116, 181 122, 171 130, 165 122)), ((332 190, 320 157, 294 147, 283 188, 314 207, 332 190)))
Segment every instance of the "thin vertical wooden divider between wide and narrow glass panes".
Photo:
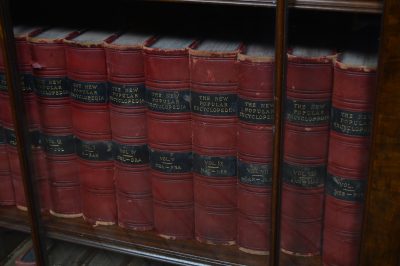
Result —
POLYGON ((274 144, 270 265, 279 265, 281 222, 281 159, 284 88, 286 86, 287 0, 277 0, 275 14, 274 144))

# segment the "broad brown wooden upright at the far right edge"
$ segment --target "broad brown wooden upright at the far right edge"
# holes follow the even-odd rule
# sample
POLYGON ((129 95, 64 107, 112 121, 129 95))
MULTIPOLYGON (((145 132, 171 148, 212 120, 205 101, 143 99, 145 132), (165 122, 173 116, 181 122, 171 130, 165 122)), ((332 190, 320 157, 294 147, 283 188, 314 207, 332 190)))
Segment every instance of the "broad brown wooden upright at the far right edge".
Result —
POLYGON ((360 265, 400 261, 400 1, 386 0, 360 265))

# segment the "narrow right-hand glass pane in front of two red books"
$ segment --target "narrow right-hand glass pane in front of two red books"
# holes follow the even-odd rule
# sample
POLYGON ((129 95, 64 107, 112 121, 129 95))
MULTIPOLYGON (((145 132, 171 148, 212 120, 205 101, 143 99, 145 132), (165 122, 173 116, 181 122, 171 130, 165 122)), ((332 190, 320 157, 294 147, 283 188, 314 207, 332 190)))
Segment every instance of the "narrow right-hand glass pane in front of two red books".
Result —
POLYGON ((293 13, 281 176, 282 264, 357 265, 379 17, 293 13), (354 26, 338 31, 330 16, 354 26), (321 26, 311 29, 315 21, 321 26))

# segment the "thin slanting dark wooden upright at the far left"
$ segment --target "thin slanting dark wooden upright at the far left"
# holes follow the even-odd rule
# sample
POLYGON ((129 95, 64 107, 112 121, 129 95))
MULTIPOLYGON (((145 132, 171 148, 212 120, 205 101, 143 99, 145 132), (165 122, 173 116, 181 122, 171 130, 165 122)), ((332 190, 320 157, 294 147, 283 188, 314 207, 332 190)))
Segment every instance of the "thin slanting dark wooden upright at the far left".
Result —
POLYGON ((33 172, 31 145, 27 127, 27 118, 23 101, 23 92, 18 73, 17 54, 10 15, 9 0, 0 0, 0 42, 6 69, 8 94, 14 120, 17 149, 20 161, 25 198, 28 205, 28 217, 35 250, 37 265, 47 265, 45 234, 43 231, 40 205, 33 172))

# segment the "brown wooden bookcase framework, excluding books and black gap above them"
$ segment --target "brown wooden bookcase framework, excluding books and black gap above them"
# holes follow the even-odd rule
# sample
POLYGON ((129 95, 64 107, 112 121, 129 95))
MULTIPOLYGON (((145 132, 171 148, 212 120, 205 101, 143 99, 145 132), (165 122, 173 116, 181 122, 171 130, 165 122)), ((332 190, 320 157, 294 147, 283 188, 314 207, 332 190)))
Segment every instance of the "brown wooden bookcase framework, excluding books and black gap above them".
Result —
MULTIPOLYGON (((368 13, 378 16, 380 48, 378 90, 375 98, 369 180, 364 211, 360 265, 399 265, 400 262, 400 2, 398 0, 181 0, 141 1, 153 6, 194 4, 192 8, 215 5, 259 7, 275 13, 275 139, 273 158, 272 237, 270 256, 246 255, 234 247, 198 244, 195 241, 171 242, 154 233, 127 232, 117 226, 93 228, 82 219, 58 219, 41 215, 35 197, 32 160, 27 144, 25 111, 22 104, 16 51, 12 33, 12 14, 18 11, 11 1, 0 0, 0 42, 7 68, 8 91, 15 119, 18 151, 24 179, 28 212, 0 208, 0 227, 31 232, 38 265, 46 265, 45 239, 61 239, 106 250, 136 255, 179 265, 320 265, 320 257, 299 258, 280 253, 280 164, 283 88, 286 75, 288 12, 310 9, 313 12, 368 13), (202 5, 200 5, 202 4, 202 5)), ((36 1, 33 1, 36 2, 36 1)), ((121 1, 124 2, 124 1, 121 1)), ((129 2, 129 1, 125 1, 129 2)), ((108 2, 107 2, 108 3, 108 2)), ((118 1, 108 5, 116 5, 118 1)), ((59 3, 69 5, 69 1, 59 3)), ((205 8, 206 7, 206 8, 205 8)), ((22 12, 22 11, 21 11, 22 12)), ((247 12, 247 11, 244 11, 247 12)), ((250 14, 249 14, 250 15, 250 14)), ((28 21, 31 24, 35 21, 28 21)), ((86 26, 86 25, 85 25, 86 26)), ((93 25, 91 25, 93 26, 93 25)))

